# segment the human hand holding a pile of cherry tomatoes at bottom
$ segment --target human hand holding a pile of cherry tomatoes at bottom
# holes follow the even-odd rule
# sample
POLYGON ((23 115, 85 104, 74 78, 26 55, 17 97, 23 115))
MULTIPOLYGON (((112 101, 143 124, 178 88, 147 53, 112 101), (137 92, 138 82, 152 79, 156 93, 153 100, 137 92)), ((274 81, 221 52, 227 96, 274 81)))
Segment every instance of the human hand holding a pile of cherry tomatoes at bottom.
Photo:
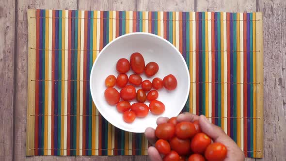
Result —
MULTIPOLYGON (((169 118, 159 117, 157 125, 167 123, 169 118)), ((210 123, 204 115, 194 115, 192 113, 182 113, 177 116, 177 121, 190 121, 199 120, 202 132, 206 133, 214 142, 222 143, 227 148, 227 155, 224 161, 244 161, 244 153, 238 145, 218 126, 210 123)), ((148 141, 154 145, 156 143, 155 129, 147 128, 145 136, 148 141)), ((148 148, 148 155, 151 161, 162 161, 162 157, 154 146, 148 148)))

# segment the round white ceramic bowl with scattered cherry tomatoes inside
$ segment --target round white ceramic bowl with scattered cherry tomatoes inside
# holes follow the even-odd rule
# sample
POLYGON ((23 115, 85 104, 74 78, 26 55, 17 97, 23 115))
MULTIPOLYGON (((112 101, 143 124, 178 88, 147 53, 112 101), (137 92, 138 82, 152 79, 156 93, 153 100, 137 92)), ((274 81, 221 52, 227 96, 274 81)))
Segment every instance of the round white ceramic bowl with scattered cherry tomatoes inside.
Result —
MULTIPOLYGON (((133 74, 128 71, 127 75, 133 74)), ((136 87, 138 90, 141 86, 136 87)), ((115 87, 118 92, 120 89, 115 87)), ((99 113, 113 126, 130 132, 141 133, 148 127, 156 128, 156 120, 160 116, 173 117, 181 112, 186 104, 190 89, 190 74, 188 66, 180 52, 167 40, 150 33, 135 32, 125 34, 113 40, 104 47, 93 64, 90 75, 90 90, 93 101, 99 113), (118 113, 116 106, 107 104, 104 98, 106 89, 104 81, 106 77, 113 74, 117 77, 116 63, 120 58, 129 60, 134 52, 143 55, 145 64, 156 62, 159 65, 158 73, 147 78, 141 74, 143 80, 152 80, 155 77, 163 79, 168 74, 173 74, 177 79, 177 87, 173 91, 167 91, 164 87, 160 89, 158 100, 165 104, 165 112, 161 115, 153 115, 151 112, 145 118, 136 118, 131 124, 123 121, 122 113, 118 113)), ((133 100, 131 103, 135 103, 133 100)), ((149 105, 149 102, 145 102, 149 105)))

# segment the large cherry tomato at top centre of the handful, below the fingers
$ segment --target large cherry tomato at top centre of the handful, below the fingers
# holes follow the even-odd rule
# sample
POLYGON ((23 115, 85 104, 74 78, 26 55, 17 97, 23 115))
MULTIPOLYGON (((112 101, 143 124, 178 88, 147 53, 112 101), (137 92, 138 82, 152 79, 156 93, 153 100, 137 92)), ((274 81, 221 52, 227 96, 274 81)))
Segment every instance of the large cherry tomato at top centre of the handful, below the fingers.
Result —
POLYGON ((195 135, 196 129, 193 123, 183 121, 176 125, 175 133, 180 139, 188 139, 195 135))

